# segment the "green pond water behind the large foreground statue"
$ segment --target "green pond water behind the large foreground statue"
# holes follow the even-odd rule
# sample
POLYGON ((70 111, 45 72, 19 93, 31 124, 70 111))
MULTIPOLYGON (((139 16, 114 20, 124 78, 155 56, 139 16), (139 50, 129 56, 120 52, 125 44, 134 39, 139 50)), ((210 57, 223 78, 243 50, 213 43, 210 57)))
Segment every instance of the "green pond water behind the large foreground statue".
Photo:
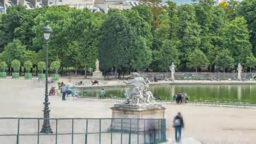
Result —
MULTIPOLYGON (((107 97, 124 97, 125 88, 104 88, 107 97)), ((132 87, 130 88, 132 89, 132 87)), ((162 100, 171 100, 178 91, 186 92, 189 101, 235 101, 256 104, 256 85, 158 85, 149 86, 152 93, 160 95, 162 100)), ((99 96, 101 89, 76 89, 83 96, 99 96)))

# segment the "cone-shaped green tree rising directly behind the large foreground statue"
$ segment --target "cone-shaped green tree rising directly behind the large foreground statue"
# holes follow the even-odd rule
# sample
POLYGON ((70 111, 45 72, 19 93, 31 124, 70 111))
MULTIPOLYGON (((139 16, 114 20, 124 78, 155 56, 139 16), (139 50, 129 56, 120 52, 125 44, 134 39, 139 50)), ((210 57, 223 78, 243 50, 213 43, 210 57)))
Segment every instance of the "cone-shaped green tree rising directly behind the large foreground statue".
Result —
POLYGON ((152 62, 152 51, 147 46, 147 40, 144 37, 139 37, 138 40, 135 41, 135 51, 133 54, 133 59, 131 60, 131 68, 133 69, 145 69, 152 62))

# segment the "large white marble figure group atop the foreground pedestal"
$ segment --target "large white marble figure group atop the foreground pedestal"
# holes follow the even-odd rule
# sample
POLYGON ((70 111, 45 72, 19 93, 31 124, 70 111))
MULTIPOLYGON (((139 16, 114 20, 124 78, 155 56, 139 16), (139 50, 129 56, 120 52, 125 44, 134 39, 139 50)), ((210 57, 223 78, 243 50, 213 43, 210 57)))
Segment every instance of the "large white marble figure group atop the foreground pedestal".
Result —
POLYGON ((145 82, 139 73, 133 72, 133 80, 125 81, 126 84, 133 84, 134 88, 130 91, 129 88, 125 89, 125 102, 123 104, 155 104, 155 98, 149 85, 145 82))

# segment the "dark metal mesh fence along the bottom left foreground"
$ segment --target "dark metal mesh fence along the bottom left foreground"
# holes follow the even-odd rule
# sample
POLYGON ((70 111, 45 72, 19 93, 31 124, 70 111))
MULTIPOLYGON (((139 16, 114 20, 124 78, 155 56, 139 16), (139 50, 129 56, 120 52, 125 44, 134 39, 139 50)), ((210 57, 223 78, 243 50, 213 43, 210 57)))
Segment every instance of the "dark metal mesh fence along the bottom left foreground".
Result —
POLYGON ((0 118, 0 144, 157 144, 166 140, 165 119, 0 118))

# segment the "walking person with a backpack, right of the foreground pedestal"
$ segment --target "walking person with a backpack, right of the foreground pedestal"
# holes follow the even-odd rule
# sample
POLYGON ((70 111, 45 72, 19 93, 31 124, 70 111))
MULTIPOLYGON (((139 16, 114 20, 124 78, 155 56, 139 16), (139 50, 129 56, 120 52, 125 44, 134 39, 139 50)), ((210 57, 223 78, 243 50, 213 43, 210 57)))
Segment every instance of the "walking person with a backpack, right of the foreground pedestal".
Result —
POLYGON ((175 141, 179 143, 181 140, 181 128, 184 128, 184 121, 180 112, 174 117, 173 127, 175 128, 175 141))

